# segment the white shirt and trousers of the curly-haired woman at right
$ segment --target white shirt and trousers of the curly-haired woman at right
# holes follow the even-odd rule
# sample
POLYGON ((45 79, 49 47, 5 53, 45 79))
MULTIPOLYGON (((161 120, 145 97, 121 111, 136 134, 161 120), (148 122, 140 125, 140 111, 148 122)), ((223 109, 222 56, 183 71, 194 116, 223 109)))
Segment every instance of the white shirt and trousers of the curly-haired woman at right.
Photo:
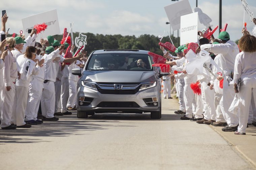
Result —
MULTIPOLYGON (((238 109, 238 132, 245 133, 252 95, 256 99, 256 52, 241 52, 235 58, 234 83, 239 87, 240 109, 238 109)), ((254 104, 256 102, 254 100, 254 104)))

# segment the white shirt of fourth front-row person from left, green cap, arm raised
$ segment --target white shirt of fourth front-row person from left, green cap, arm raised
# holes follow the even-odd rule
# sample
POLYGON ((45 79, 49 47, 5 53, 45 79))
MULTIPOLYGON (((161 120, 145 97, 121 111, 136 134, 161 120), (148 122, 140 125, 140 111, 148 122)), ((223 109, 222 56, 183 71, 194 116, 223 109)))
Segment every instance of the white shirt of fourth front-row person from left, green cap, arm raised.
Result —
MULTIPOLYGON (((44 54, 44 56, 42 57, 42 59, 44 59, 44 67, 45 67, 45 73, 44 73, 44 79, 45 80, 50 80, 55 82, 56 81, 56 67, 55 67, 55 63, 53 62, 53 60, 58 57, 60 54, 60 50, 57 49, 55 51, 53 51, 51 54, 44 54)), ((61 62, 63 62, 63 58, 60 59, 61 62)))

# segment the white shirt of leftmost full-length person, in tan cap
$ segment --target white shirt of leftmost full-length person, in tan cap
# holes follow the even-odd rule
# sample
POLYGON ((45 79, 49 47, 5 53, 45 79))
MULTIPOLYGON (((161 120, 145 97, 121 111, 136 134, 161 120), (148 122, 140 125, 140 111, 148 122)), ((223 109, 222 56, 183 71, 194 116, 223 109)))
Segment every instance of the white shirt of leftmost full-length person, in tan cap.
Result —
POLYGON ((4 59, 3 75, 5 87, 11 86, 18 76, 16 60, 9 50, 4 59))

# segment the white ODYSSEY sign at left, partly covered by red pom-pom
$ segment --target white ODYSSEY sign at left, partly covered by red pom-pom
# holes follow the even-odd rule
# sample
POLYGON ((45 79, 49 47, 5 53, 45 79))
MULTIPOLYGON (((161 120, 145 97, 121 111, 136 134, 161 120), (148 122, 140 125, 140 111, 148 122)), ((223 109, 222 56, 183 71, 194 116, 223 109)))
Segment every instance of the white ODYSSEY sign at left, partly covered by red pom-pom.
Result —
POLYGON ((51 10, 43 13, 39 13, 36 15, 32 15, 22 19, 23 32, 25 33, 25 37, 29 36, 28 30, 32 29, 35 24, 41 23, 47 24, 47 29, 42 31, 37 40, 40 38, 46 38, 47 36, 54 36, 56 34, 60 34, 60 25, 58 21, 57 10, 51 10))

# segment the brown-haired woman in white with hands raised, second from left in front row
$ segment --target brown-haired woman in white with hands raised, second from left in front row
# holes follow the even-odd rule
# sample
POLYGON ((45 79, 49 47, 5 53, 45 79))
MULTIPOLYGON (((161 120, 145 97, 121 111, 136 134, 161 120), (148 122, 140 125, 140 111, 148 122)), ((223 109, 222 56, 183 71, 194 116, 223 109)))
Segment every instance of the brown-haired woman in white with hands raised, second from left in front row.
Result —
POLYGON ((25 113, 28 101, 28 89, 32 75, 39 73, 39 68, 43 65, 44 60, 38 61, 36 58, 36 48, 27 47, 26 52, 17 58, 17 69, 20 72, 20 78, 15 83, 15 97, 13 105, 14 124, 18 128, 31 127, 30 124, 25 123, 25 113))

